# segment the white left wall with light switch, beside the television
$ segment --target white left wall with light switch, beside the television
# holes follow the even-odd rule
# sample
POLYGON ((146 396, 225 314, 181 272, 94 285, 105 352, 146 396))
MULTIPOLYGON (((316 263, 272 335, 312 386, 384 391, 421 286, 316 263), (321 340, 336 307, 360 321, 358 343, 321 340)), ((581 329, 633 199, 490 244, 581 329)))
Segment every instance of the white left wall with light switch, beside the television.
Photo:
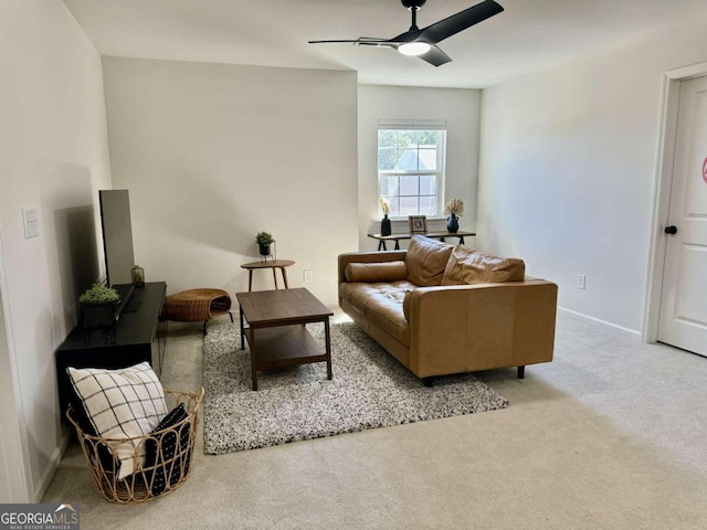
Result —
MULTIPOLYGON (((110 187, 101 56, 63 2, 3 1, 0 72, 6 319, 29 481, 41 496, 68 433, 60 426, 54 350, 76 324, 83 283, 101 274, 94 206, 97 190, 110 187), (36 239, 24 239, 23 208, 39 213, 36 239)), ((0 388, 0 399, 12 392, 0 388)))

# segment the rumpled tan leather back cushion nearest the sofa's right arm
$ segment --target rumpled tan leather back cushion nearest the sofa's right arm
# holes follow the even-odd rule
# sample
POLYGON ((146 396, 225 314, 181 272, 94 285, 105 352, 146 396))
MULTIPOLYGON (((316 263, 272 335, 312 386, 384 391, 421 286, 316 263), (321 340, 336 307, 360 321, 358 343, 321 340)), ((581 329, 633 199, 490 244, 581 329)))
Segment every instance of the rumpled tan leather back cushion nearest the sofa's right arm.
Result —
POLYGON ((456 245, 444 268, 442 285, 523 282, 526 264, 517 257, 496 257, 456 245))

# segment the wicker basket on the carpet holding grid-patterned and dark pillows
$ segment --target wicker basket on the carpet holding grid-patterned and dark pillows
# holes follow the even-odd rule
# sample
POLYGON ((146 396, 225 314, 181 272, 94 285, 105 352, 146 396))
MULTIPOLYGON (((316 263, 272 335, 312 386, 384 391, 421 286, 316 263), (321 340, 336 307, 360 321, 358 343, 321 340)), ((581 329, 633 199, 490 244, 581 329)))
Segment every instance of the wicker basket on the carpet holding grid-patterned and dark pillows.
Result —
POLYGON ((144 502, 184 483, 203 388, 163 390, 146 362, 67 371, 75 394, 66 416, 106 500, 144 502))

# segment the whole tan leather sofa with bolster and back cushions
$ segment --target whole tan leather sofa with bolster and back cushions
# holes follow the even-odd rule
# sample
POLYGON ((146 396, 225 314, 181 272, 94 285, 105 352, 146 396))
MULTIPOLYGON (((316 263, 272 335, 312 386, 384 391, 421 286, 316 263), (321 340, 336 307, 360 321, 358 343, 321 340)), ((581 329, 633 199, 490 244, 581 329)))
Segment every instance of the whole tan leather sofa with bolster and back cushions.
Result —
POLYGON ((552 360, 557 285, 517 258, 414 236, 408 251, 342 254, 339 306, 425 384, 552 360))

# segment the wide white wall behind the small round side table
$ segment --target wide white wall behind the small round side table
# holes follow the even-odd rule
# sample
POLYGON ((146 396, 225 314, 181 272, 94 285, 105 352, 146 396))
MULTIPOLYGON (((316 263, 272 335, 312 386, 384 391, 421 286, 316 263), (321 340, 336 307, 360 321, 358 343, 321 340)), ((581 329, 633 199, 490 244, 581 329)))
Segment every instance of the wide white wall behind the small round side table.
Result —
POLYGON ((148 282, 233 297, 266 231, 296 262, 291 287, 313 269, 306 287, 336 306, 336 256, 356 247, 355 73, 104 57, 104 80, 113 183, 130 192, 148 282))

